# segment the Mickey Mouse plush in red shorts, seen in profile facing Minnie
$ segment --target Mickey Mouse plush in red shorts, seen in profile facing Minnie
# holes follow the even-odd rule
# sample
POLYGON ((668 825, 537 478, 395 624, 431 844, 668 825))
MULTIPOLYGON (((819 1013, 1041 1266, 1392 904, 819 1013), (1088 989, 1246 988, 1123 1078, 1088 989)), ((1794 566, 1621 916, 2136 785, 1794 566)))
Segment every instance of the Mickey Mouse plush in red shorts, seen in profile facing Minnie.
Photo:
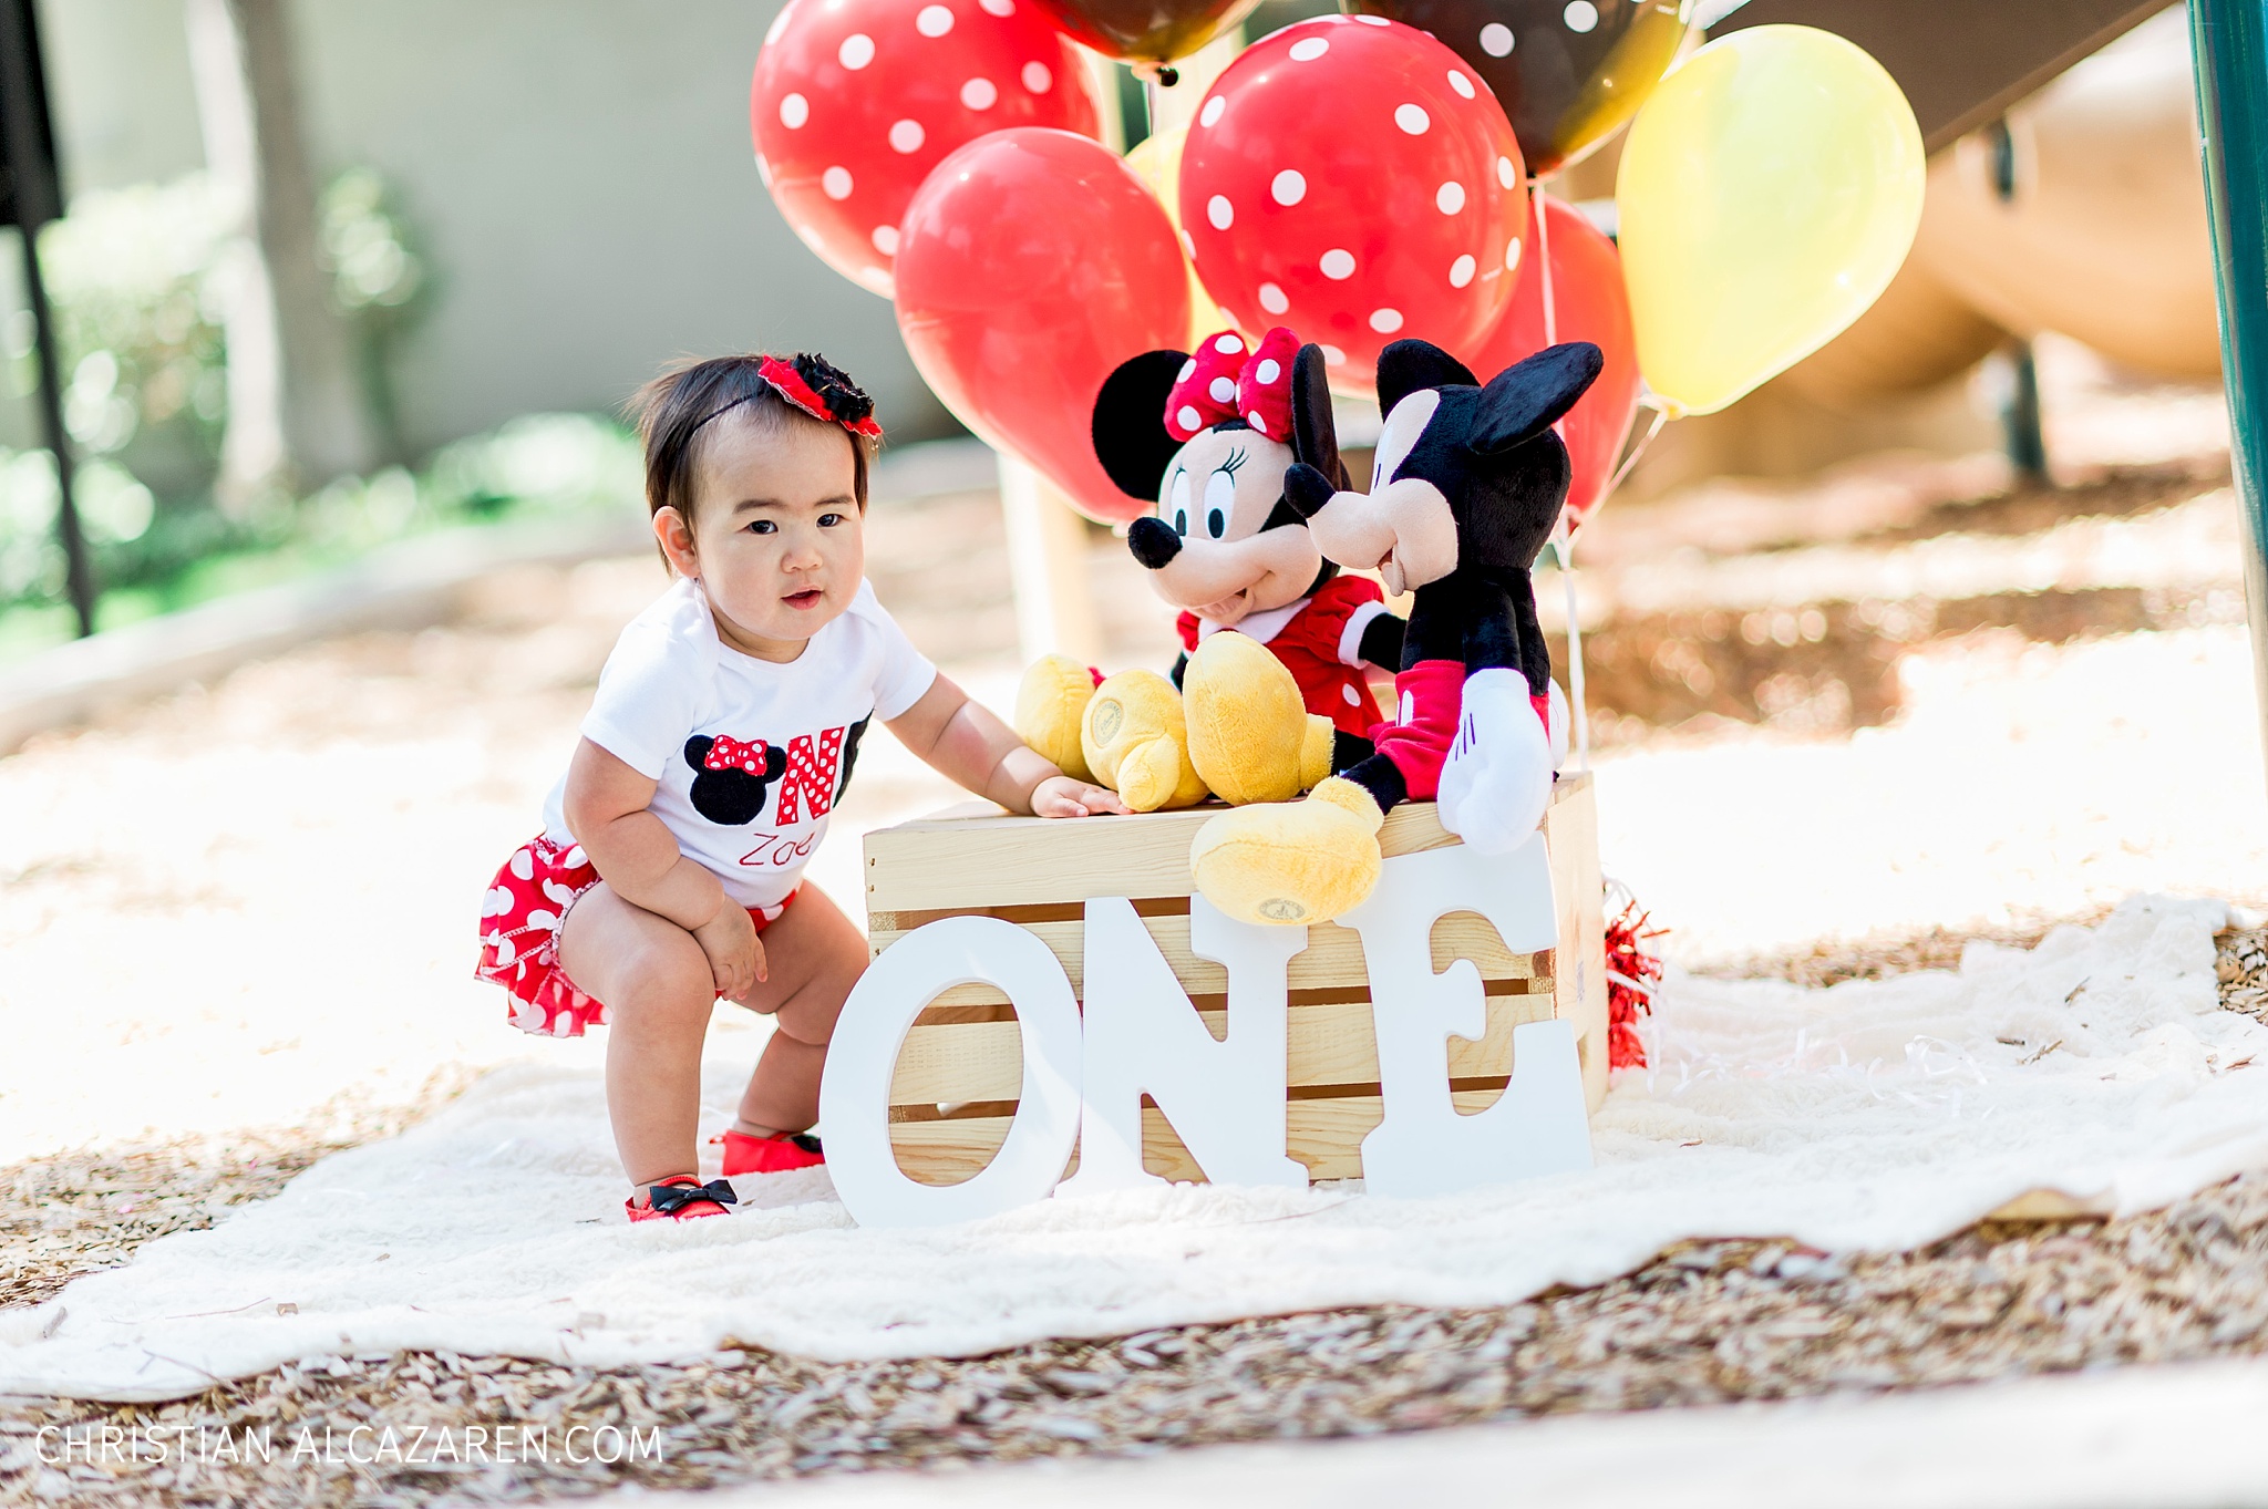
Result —
POLYGON ((1243 807, 1198 832, 1198 890, 1247 922, 1322 922, 1370 895, 1379 825, 1436 798, 1440 822, 1483 854, 1520 845, 1551 800, 1551 662, 1529 569, 1567 501, 1551 430, 1599 376, 1590 342, 1538 351, 1486 387, 1440 347, 1379 353, 1370 492, 1293 464, 1284 496, 1329 560, 1415 591, 1397 718, 1377 752, 1297 804, 1243 807))

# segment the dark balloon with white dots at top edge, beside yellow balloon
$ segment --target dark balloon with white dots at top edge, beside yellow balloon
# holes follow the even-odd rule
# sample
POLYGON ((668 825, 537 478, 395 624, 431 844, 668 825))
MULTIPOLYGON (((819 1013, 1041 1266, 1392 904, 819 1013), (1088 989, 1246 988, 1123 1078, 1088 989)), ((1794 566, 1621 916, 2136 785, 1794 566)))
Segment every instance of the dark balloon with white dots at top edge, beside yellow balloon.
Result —
POLYGON ((1497 91, 1551 177, 1637 113, 1685 39, 1678 0, 1340 0, 1445 41, 1497 91))

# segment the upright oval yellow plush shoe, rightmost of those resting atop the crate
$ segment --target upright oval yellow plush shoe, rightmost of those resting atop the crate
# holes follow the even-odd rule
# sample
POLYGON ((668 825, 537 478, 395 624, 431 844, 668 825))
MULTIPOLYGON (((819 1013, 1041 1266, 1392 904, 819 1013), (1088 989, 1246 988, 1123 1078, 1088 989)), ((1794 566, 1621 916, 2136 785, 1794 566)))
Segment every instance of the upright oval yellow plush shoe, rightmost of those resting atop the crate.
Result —
POLYGON ((1313 784, 1300 779, 1309 743, 1300 682, 1259 639, 1207 634, 1182 673, 1182 707, 1188 764, 1222 802, 1288 802, 1313 784))

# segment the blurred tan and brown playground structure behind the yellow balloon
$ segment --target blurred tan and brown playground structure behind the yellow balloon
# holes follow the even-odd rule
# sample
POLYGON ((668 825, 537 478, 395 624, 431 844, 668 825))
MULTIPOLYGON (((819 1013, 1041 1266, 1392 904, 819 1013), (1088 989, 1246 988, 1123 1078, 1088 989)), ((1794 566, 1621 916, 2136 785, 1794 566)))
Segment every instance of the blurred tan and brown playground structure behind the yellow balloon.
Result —
POLYGON ((1846 406, 1926 390, 2005 333, 2039 331, 2159 376, 2218 374, 2182 7, 1749 0, 1712 34, 1769 23, 1821 25, 1873 52, 1935 154, 1905 270, 1789 374, 1799 392, 1846 406))

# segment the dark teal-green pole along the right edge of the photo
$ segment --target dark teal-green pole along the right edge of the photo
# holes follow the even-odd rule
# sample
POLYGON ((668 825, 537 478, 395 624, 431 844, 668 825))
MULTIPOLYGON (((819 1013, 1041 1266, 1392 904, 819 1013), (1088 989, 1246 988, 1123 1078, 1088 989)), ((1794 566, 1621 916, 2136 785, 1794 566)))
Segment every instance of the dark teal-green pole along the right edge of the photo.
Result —
POLYGON ((2268 748, 2268 0, 2189 0, 2220 290, 2229 460, 2250 526, 2245 609, 2268 748))

